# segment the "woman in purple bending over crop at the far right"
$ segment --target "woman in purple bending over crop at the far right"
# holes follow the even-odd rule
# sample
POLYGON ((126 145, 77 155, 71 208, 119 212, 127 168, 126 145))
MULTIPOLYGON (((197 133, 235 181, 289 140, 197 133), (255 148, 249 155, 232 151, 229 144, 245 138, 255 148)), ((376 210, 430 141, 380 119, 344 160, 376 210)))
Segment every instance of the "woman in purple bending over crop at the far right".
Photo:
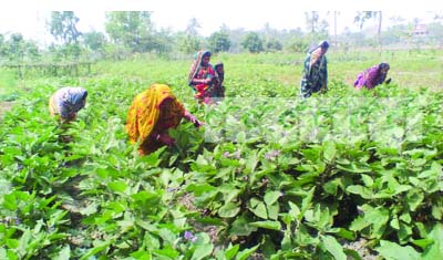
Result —
POLYGON ((382 84, 383 82, 389 84, 391 79, 385 81, 390 66, 388 63, 380 63, 361 72, 353 83, 354 87, 360 90, 361 87, 365 86, 368 90, 370 90, 374 89, 379 84, 382 84))

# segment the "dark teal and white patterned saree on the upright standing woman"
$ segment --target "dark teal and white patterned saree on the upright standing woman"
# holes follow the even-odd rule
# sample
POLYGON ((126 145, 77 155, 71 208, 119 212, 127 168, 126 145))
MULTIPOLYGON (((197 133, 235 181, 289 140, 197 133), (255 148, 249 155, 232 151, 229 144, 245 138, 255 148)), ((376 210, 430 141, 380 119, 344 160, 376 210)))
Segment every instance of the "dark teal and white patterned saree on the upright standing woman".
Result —
POLYGON ((328 90, 328 61, 324 54, 321 54, 320 45, 308 53, 303 63, 300 84, 302 97, 309 97, 312 93, 328 90))

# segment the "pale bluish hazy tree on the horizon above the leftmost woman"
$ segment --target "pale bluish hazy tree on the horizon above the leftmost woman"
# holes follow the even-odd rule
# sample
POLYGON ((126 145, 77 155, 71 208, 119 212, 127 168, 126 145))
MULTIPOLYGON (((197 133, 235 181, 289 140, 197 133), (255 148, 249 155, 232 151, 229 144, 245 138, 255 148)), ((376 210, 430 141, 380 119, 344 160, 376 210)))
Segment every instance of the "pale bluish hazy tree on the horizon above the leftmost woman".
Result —
POLYGON ((82 34, 75 27, 80 21, 73 11, 53 11, 51 12, 51 20, 47 23, 50 33, 63 42, 63 44, 78 43, 79 37, 82 34))

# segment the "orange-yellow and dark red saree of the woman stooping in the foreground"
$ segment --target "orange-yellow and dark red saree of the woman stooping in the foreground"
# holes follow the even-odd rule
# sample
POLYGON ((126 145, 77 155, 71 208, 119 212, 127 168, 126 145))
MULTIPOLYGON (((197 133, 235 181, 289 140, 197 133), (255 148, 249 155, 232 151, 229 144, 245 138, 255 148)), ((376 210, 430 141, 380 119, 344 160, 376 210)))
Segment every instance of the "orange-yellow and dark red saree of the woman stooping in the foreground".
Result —
POLYGON ((135 144, 141 141, 141 155, 155 152, 164 145, 157 141, 157 134, 177 127, 184 114, 185 108, 169 86, 153 84, 132 102, 126 122, 130 142, 135 144))

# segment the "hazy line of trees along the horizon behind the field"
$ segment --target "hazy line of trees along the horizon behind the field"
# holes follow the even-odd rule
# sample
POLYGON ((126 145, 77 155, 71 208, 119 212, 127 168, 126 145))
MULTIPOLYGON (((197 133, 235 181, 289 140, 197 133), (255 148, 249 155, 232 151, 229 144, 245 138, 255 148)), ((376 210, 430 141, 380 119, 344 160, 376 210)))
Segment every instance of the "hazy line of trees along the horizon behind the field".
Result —
MULTIPOLYGON (((333 12, 334 21, 339 12, 333 12)), ((47 29, 54 38, 51 45, 42 48, 33 40, 25 40, 20 33, 0 34, 1 64, 14 64, 95 61, 103 59, 123 60, 137 53, 155 53, 165 56, 179 56, 195 53, 207 48, 213 52, 306 52, 319 40, 328 39, 337 48, 350 50, 361 46, 398 44, 408 48, 422 45, 441 46, 443 25, 441 18, 427 24, 424 35, 415 35, 419 20, 406 22, 398 18, 396 24, 381 31, 382 12, 358 12, 354 23, 359 32, 349 28, 342 33, 329 34, 329 24, 319 12, 306 12, 306 30, 276 30, 269 23, 258 31, 229 29, 220 27, 209 37, 199 33, 197 19, 190 19, 184 31, 157 29, 147 11, 107 12, 105 32, 81 32, 76 24, 80 18, 72 11, 54 11, 47 21, 47 29), (378 31, 364 29, 365 21, 379 21, 378 31)))

